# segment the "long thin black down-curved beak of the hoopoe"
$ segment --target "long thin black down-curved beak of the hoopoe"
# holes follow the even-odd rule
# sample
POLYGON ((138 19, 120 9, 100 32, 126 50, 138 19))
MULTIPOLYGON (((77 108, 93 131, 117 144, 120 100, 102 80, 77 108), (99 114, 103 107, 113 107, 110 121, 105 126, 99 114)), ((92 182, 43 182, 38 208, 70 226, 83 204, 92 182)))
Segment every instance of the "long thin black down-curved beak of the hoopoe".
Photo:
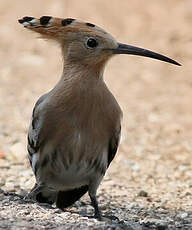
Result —
POLYGON ((169 62, 178 66, 181 66, 180 63, 174 61, 171 58, 168 58, 164 55, 155 53, 153 51, 150 50, 146 50, 143 48, 139 48, 136 46, 131 46, 131 45, 126 45, 126 44, 122 44, 122 43, 118 43, 118 47, 116 49, 113 49, 113 53, 114 54, 131 54, 131 55, 138 55, 138 56, 144 56, 144 57, 149 57, 149 58, 154 58, 154 59, 158 59, 164 62, 169 62))

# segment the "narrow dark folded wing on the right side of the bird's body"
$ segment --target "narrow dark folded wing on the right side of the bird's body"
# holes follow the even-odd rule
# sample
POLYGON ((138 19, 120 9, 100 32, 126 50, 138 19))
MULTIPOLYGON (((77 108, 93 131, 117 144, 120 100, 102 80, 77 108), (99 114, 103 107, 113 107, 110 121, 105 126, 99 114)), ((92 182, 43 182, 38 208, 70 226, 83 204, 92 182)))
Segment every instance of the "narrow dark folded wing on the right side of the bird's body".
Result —
POLYGON ((121 136, 121 125, 118 126, 118 129, 114 132, 113 136, 111 137, 109 141, 109 146, 108 146, 108 167, 115 157, 115 154, 117 152, 117 148, 119 145, 119 140, 121 136))

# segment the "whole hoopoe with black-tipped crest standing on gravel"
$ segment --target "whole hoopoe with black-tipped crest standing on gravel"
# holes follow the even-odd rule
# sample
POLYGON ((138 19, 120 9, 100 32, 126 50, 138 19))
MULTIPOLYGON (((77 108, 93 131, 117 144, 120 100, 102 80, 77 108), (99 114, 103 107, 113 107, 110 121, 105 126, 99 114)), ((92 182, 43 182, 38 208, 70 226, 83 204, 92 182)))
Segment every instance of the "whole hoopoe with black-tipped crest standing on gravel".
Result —
POLYGON ((94 217, 103 220, 97 189, 116 155, 122 121, 122 110, 103 79, 105 66, 117 54, 181 64, 119 43, 89 22, 52 16, 25 16, 18 22, 56 41, 64 60, 59 81, 32 112, 27 149, 36 183, 27 197, 64 210, 88 192, 94 217))

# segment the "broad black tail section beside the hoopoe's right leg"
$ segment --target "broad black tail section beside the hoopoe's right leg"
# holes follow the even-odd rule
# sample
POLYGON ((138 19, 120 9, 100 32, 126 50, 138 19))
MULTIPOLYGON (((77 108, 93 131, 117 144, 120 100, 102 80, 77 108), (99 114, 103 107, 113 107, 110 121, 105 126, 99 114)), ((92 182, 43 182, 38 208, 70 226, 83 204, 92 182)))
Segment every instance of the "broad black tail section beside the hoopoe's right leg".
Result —
POLYGON ((64 209, 71 206, 77 200, 79 200, 87 191, 88 185, 69 191, 59 191, 56 201, 57 208, 64 209))

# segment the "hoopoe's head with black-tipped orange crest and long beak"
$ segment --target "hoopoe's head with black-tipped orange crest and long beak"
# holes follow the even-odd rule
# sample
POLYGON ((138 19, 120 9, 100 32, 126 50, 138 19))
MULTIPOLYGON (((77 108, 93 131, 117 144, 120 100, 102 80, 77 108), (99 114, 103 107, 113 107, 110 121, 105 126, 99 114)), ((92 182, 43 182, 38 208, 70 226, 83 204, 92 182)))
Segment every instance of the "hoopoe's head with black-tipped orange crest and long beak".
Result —
POLYGON ((180 65, 161 54, 118 43, 102 28, 72 18, 43 16, 40 19, 24 17, 19 19, 24 27, 39 33, 42 37, 56 40, 62 47, 64 60, 86 66, 103 66, 116 54, 139 55, 180 65))

